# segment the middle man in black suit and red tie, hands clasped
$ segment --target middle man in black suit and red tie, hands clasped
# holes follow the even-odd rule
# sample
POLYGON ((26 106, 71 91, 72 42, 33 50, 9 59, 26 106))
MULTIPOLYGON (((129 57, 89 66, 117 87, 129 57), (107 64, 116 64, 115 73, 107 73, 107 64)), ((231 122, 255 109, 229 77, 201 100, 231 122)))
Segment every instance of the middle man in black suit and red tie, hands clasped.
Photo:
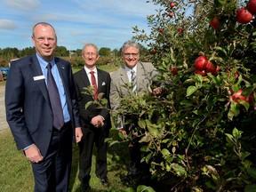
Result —
MULTIPOLYGON (((98 48, 95 44, 85 44, 82 52, 84 68, 74 74, 76 84, 76 94, 78 98, 80 120, 82 124, 83 139, 79 142, 79 174, 84 190, 89 186, 92 166, 92 148, 95 143, 97 147, 96 155, 96 175, 103 185, 108 184, 107 177, 107 143, 111 128, 109 116, 109 89, 110 76, 108 72, 96 67, 99 59, 98 48), (93 94, 84 92, 84 88, 93 89, 93 94), (94 100, 107 100, 107 104, 99 106, 94 100), (90 104, 90 105, 89 105, 90 104), (88 105, 88 108, 85 108, 88 105)), ((91 89, 91 90, 92 90, 91 89)))

